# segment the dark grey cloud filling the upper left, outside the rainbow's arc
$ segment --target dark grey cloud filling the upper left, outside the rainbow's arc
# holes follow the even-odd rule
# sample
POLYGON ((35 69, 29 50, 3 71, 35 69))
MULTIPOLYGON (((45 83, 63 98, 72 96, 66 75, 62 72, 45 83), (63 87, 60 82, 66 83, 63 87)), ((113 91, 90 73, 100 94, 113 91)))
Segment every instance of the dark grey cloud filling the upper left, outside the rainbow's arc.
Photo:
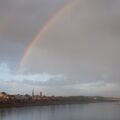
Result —
POLYGON ((32 41, 38 29, 68 0, 0 1, 0 60, 13 64, 32 41))

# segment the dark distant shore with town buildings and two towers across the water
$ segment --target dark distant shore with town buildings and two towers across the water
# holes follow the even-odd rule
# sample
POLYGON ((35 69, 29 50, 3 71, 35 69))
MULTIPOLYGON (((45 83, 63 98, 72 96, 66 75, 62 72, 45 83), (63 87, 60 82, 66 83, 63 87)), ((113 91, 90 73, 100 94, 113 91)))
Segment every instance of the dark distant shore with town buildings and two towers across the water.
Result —
POLYGON ((120 98, 101 97, 101 96, 45 96, 40 92, 38 95, 32 91, 32 96, 25 95, 9 95, 0 92, 0 107, 4 106, 24 106, 24 105, 53 105, 53 104, 79 104, 94 102, 114 102, 120 101, 120 98))

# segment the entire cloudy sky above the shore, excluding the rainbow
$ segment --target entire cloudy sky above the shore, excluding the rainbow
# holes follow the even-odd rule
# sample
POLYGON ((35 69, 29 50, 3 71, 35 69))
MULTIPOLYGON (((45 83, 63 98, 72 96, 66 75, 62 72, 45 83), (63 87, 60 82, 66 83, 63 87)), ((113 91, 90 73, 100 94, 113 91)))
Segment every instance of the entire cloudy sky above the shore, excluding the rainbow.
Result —
POLYGON ((119 0, 75 0, 16 70, 38 30, 66 2, 0 1, 0 91, 120 96, 119 0))

